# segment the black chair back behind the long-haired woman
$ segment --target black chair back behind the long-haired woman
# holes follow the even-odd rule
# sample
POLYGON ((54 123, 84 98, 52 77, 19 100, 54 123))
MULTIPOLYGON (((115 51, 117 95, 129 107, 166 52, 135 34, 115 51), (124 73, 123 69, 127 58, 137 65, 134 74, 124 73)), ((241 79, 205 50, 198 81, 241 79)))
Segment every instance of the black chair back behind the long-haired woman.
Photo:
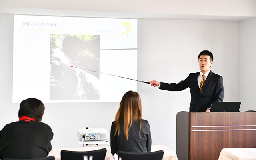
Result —
POLYGON ((122 160, 162 160, 164 156, 163 150, 158 150, 155 152, 147 152, 147 153, 133 153, 133 152, 125 152, 118 151, 118 157, 121 157, 122 160))

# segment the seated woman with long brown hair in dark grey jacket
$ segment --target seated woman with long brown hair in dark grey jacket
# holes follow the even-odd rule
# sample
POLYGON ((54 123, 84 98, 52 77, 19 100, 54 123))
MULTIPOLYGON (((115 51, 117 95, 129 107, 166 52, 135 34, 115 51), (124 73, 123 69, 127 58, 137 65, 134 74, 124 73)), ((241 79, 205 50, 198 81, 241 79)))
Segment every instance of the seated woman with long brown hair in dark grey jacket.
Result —
POLYGON ((113 155, 118 151, 151 151, 150 126, 141 116, 140 95, 133 91, 126 92, 111 125, 110 146, 113 155))

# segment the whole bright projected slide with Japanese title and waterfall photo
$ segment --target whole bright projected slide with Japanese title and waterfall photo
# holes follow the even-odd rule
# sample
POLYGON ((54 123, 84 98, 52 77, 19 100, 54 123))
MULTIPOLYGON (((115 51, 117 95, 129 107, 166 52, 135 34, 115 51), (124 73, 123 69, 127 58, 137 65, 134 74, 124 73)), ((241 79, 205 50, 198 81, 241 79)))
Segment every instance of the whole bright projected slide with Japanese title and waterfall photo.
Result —
POLYGON ((14 15, 13 30, 13 103, 120 102, 137 90, 118 77, 137 79, 135 19, 14 15))

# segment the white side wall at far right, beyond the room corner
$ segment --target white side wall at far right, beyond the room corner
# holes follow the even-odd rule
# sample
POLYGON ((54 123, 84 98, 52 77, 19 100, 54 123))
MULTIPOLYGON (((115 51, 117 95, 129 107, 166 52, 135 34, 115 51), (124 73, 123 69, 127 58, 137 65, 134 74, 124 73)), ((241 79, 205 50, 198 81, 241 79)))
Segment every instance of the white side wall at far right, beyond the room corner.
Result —
POLYGON ((256 110, 256 18, 239 25, 238 100, 241 111, 256 110))

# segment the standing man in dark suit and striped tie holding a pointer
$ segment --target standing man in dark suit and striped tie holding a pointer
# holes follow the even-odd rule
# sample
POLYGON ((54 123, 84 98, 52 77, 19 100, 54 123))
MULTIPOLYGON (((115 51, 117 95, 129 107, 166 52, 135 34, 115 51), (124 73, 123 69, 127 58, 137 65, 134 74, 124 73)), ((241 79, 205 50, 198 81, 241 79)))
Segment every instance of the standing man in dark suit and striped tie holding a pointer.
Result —
POLYGON ((156 80, 149 81, 151 86, 161 90, 181 91, 189 87, 191 94, 190 112, 210 112, 212 102, 222 102, 224 96, 222 76, 210 71, 213 55, 203 50, 198 55, 200 72, 190 73, 179 83, 163 83, 156 80))

